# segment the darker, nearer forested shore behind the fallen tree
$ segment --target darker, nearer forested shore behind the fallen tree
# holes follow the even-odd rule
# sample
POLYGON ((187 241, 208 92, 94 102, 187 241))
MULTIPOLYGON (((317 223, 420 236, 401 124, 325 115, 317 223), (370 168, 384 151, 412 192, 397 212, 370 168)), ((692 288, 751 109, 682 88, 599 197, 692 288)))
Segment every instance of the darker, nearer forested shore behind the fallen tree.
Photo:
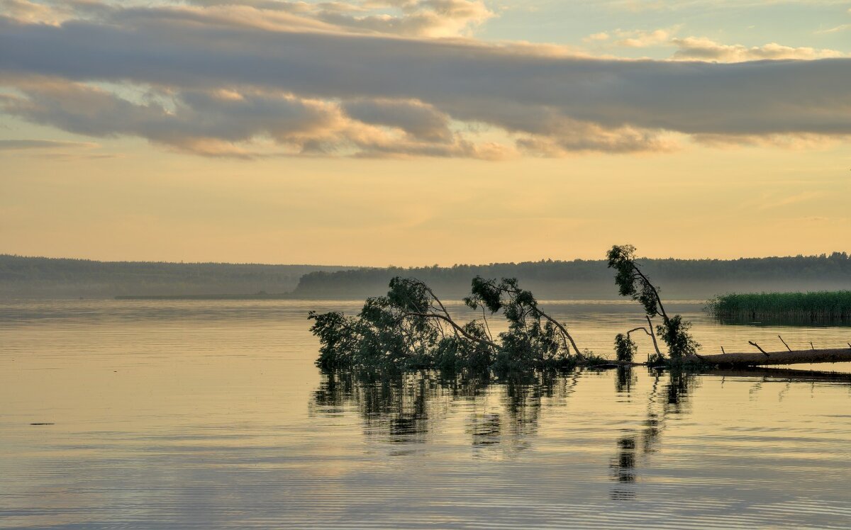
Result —
MULTIPOLYGON (((743 259, 639 259, 671 299, 708 299, 732 291, 810 291, 851 288, 847 253, 743 259)), ((516 277, 540 299, 615 299, 614 273, 603 259, 523 263, 388 267, 316 271, 301 277, 293 295, 306 299, 362 299, 386 292, 393 276, 414 276, 444 299, 460 299, 471 278, 516 277)))

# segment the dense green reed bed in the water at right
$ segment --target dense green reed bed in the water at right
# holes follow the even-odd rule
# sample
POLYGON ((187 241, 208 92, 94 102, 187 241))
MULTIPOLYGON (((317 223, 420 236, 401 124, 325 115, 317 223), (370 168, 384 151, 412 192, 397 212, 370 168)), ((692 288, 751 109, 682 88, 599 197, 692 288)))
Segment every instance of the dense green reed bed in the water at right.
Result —
POLYGON ((748 322, 851 322, 851 291, 730 293, 711 299, 707 311, 748 322))

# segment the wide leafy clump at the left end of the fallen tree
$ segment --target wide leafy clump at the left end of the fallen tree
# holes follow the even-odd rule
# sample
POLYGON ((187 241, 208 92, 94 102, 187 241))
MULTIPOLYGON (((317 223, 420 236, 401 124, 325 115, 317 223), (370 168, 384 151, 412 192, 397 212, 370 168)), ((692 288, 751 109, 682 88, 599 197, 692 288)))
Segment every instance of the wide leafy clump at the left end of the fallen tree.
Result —
POLYGON ((356 367, 486 369, 512 373, 533 368, 568 368, 584 358, 563 324, 541 311, 534 295, 514 278, 473 279, 471 309, 483 320, 454 322, 424 282, 394 277, 386 296, 369 298, 357 316, 311 311, 311 332, 321 343, 317 365, 356 367), (494 340, 487 316, 500 313, 508 330, 494 340), (569 344, 568 344, 569 342, 569 344))

